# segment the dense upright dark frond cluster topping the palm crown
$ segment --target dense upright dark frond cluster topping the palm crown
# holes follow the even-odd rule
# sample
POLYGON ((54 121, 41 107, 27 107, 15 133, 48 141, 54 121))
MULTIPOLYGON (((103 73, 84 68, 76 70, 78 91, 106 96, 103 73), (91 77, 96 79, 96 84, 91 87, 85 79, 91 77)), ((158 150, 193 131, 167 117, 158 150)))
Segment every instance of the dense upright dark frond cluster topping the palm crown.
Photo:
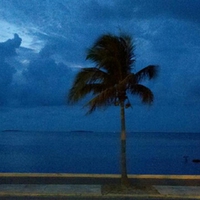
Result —
POLYGON ((133 49, 131 37, 107 34, 100 37, 93 47, 88 49, 86 59, 95 62, 98 68, 108 71, 112 69, 111 71, 121 72, 118 74, 125 77, 135 61, 133 49))

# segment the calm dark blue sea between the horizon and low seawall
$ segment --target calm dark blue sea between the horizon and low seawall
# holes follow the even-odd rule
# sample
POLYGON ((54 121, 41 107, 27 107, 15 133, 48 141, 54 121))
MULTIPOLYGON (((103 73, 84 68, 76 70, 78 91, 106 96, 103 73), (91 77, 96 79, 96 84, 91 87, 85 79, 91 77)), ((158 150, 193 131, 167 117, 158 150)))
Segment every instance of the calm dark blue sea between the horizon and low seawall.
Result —
MULTIPOLYGON (((129 174, 200 175, 200 133, 128 133, 129 174)), ((0 172, 120 173, 120 133, 0 132, 0 172)))

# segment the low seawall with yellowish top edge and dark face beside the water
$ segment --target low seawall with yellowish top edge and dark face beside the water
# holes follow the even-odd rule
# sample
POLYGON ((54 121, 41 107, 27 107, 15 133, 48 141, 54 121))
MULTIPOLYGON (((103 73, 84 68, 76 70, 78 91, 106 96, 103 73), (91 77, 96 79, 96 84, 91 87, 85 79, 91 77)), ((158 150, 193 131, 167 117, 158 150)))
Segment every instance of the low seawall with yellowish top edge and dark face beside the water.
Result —
MULTIPOLYGON (((200 175, 129 175, 141 185, 200 186, 200 175)), ((0 173, 0 184, 106 184, 120 183, 115 174, 0 173)))

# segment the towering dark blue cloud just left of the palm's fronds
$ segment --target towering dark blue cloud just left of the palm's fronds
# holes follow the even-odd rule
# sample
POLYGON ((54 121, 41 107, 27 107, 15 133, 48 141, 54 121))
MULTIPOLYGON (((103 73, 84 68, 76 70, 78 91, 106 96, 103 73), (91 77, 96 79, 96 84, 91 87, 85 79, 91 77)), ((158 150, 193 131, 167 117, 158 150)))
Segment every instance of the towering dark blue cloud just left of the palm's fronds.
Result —
POLYGON ((54 46, 45 46, 22 73, 25 84, 21 91, 21 103, 28 105, 66 104, 72 73, 63 63, 56 63, 51 56, 54 46))

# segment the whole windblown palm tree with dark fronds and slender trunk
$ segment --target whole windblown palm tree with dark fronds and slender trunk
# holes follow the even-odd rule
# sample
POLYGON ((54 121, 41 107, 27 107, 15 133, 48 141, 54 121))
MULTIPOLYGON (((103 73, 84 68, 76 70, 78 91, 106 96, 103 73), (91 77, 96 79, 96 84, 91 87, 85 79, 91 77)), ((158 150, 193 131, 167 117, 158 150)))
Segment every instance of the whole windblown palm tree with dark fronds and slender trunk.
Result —
POLYGON ((156 77, 157 66, 149 65, 134 73, 134 45, 129 35, 102 35, 88 49, 87 60, 95 63, 94 67, 83 68, 76 75, 69 91, 69 103, 76 103, 88 94, 93 98, 85 106, 88 114, 98 107, 116 105, 121 115, 121 183, 128 181, 126 167, 126 127, 125 108, 131 107, 128 95, 139 95, 145 104, 153 102, 152 91, 140 84, 142 80, 156 77))

